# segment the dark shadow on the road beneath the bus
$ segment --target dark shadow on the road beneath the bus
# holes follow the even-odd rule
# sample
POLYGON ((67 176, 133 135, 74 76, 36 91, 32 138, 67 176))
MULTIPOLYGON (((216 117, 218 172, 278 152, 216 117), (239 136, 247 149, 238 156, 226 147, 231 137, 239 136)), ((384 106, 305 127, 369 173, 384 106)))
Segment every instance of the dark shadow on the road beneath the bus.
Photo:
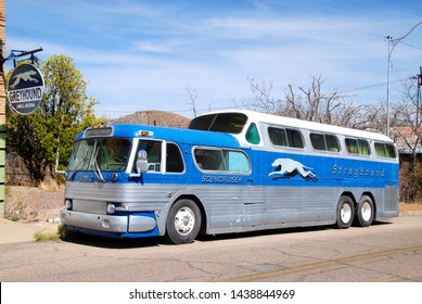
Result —
MULTIPOLYGON (((392 223, 375 221, 372 224, 372 226, 376 227, 376 226, 383 226, 388 224, 392 223)), ((368 228, 350 227, 349 229, 368 229, 368 228)), ((334 228, 332 225, 328 225, 328 226, 267 229, 267 230, 222 233, 222 235, 200 235, 196 238, 196 241, 216 242, 216 241, 234 240, 234 239, 259 238, 259 237, 276 236, 276 235, 287 236, 292 233, 307 233, 307 232, 317 232, 317 231, 327 231, 327 230, 338 230, 340 233, 343 232, 342 229, 337 229, 334 228)), ((104 238, 104 237, 84 235, 77 232, 69 233, 68 236, 66 236, 66 238, 62 239, 62 241, 80 244, 80 245, 87 245, 87 246, 120 249, 120 250, 172 245, 164 237, 116 239, 116 238, 104 238)))

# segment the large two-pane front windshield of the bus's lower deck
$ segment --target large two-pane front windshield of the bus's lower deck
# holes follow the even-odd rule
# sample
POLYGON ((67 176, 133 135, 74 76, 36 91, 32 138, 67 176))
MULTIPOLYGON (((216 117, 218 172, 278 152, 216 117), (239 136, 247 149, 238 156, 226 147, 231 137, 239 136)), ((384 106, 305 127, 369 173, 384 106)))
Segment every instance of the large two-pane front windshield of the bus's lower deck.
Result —
POLYGON ((123 138, 88 138, 75 143, 68 169, 122 172, 130 153, 130 140, 123 138))

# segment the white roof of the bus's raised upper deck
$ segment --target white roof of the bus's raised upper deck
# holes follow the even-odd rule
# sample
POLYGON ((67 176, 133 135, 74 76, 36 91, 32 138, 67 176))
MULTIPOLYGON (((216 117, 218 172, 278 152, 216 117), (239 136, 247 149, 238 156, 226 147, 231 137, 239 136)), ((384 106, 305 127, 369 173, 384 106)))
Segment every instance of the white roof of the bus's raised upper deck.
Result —
POLYGON ((344 136, 356 137, 356 138, 366 138, 366 139, 372 139, 379 141, 393 142, 391 138, 376 132, 338 127, 338 126, 302 121, 302 119, 290 118, 284 116, 277 116, 277 115, 265 114, 265 113, 259 113, 250 110, 215 111, 215 112, 204 113, 200 116, 218 114, 218 113, 242 113, 247 116, 248 123, 254 122, 256 124, 261 123, 261 124, 269 124, 269 125, 278 125, 278 126, 292 127, 297 129, 307 129, 307 130, 314 130, 320 132, 337 134, 337 135, 344 135, 344 136))

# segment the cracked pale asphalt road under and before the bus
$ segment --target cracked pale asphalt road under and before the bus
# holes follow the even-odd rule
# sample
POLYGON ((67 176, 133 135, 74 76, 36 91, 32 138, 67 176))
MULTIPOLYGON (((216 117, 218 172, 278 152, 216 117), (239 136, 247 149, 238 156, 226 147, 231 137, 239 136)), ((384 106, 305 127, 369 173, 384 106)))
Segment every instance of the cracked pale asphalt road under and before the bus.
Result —
POLYGON ((1 244, 0 281, 421 282, 422 216, 346 230, 208 236, 184 245, 88 236, 1 244))

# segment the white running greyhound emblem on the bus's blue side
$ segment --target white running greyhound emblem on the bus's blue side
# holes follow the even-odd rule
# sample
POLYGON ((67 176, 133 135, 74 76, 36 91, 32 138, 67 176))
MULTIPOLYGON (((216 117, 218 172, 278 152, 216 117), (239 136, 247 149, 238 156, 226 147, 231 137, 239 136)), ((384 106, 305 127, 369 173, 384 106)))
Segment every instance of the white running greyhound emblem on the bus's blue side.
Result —
POLYGON ((276 167, 276 170, 271 172, 268 176, 274 176, 274 179, 290 178, 299 174, 307 180, 317 180, 317 175, 311 172, 314 168, 305 166, 292 159, 277 159, 271 166, 276 167))

